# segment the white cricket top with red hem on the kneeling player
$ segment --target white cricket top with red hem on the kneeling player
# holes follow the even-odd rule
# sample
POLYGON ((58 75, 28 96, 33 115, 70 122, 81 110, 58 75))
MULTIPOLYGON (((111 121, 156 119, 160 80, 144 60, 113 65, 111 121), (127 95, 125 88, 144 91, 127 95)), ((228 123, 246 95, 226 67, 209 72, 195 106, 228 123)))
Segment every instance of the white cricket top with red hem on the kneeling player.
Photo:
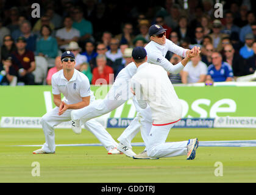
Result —
POLYGON ((146 103, 151 107, 153 125, 163 126, 182 118, 182 104, 161 66, 143 63, 131 83, 141 108, 146 108, 146 103))

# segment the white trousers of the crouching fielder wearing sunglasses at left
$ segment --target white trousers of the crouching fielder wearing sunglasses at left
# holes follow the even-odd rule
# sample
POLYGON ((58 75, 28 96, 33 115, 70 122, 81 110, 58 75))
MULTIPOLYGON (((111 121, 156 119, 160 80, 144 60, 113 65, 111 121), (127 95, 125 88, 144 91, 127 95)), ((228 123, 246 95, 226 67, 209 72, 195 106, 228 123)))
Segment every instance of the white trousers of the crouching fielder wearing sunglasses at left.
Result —
MULTIPOLYGON (((55 134, 54 127, 61 122, 71 120, 71 109, 66 110, 62 115, 58 115, 59 107, 55 107, 50 112, 46 113, 41 118, 41 124, 45 136, 45 143, 43 144, 43 151, 47 153, 55 152, 55 134)), ((104 127, 94 119, 84 123, 85 129, 89 130, 93 135, 98 138, 102 145, 109 151, 112 147, 116 147, 117 143, 112 136, 104 129, 104 127)))

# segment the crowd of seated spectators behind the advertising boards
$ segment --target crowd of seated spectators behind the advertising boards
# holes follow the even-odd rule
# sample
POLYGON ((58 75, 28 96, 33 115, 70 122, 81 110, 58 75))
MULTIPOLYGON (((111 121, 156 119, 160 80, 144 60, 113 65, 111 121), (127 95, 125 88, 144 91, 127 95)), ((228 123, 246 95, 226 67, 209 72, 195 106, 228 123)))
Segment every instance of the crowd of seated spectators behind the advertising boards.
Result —
MULTIPOLYGON (((72 51, 75 68, 91 84, 113 83, 131 62, 132 48, 149 43, 149 27, 160 24, 166 38, 201 55, 172 83, 236 80, 256 70, 255 1, 222 1, 222 18, 215 18, 215 1, 41 0, 40 18, 32 17, 29 0, 0 3, 0 85, 51 85, 60 69, 60 55, 72 51), (136 2, 136 3, 135 3, 136 2)), ((179 55, 166 54, 172 64, 179 55)))

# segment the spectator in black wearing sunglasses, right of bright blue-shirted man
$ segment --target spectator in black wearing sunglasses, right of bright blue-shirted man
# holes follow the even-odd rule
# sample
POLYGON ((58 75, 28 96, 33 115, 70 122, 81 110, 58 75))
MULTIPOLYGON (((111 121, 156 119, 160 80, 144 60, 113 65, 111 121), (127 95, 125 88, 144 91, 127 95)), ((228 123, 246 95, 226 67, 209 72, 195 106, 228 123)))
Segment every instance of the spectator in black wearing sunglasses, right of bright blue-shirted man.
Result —
POLYGON ((232 66, 234 77, 249 74, 247 71, 246 60, 244 60, 240 54, 235 54, 235 49, 233 48, 232 44, 226 44, 224 47, 224 52, 225 55, 223 61, 232 66))

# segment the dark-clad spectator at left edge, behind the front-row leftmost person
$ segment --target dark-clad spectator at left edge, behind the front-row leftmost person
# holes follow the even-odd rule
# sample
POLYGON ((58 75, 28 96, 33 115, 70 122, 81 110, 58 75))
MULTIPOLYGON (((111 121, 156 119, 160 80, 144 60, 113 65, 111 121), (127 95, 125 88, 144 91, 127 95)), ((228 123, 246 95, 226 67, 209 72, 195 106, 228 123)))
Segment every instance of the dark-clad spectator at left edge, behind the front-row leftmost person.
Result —
POLYGON ((7 57, 15 51, 15 43, 11 37, 11 35, 5 35, 3 41, 3 45, 1 46, 1 58, 0 59, 7 59, 7 57))

